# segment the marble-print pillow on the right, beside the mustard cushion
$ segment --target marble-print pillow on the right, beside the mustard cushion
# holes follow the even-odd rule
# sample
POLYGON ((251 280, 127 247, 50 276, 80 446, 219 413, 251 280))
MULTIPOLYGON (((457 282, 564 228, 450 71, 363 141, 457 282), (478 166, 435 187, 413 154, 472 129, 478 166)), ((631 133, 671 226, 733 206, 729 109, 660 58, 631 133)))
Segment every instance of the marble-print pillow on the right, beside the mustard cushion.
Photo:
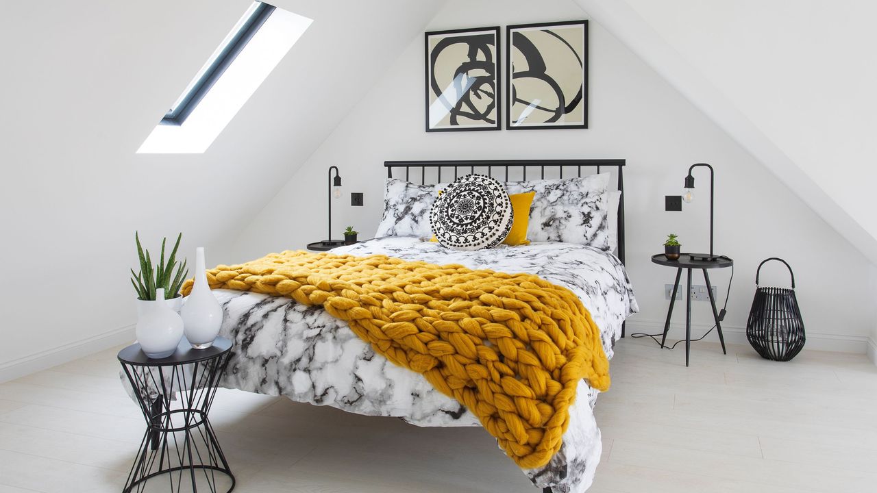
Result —
POLYGON ((527 239, 562 241, 610 250, 610 174, 560 180, 508 182, 510 194, 535 191, 527 239))

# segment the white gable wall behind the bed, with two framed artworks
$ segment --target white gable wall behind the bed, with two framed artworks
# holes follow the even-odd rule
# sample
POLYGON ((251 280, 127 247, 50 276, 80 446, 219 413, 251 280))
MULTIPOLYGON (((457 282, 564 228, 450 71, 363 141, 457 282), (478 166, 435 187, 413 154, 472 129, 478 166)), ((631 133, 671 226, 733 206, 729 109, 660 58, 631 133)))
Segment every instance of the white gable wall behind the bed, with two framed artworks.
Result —
MULTIPOLYGON (((430 30, 588 18, 571 1, 452 0, 430 30)), ((663 285, 674 271, 652 265, 669 232, 686 250, 708 241, 706 190, 683 212, 665 212, 664 196, 679 195, 688 166, 706 161, 717 169, 716 245, 737 264, 725 326, 742 341, 752 302, 755 268, 781 256, 795 268, 809 347, 865 351, 873 320, 869 263, 790 192, 752 155, 682 97, 600 25, 590 26, 590 129, 520 132, 424 132, 423 38, 410 39, 402 56, 319 146, 307 163, 241 234, 231 261, 289 248, 325 236, 326 169, 337 165, 345 191, 365 193, 365 207, 349 196, 336 202, 333 224, 352 224, 368 238, 381 217, 385 160, 503 158, 624 158, 627 265, 642 309, 632 329, 658 332, 666 315, 663 285), (736 332, 735 332, 736 331, 736 332)), ((503 29, 504 36, 504 29, 503 29)), ((698 175, 698 184, 706 182, 698 175)), ((779 265, 779 264, 778 264, 779 265)), ((730 272, 712 275, 724 299, 730 272)), ((766 283, 788 282, 781 265, 765 268, 766 283)), ((695 276, 695 281, 698 276, 695 276)), ((706 328, 709 304, 695 304, 706 328)), ((674 316, 674 336, 684 312, 674 316)))

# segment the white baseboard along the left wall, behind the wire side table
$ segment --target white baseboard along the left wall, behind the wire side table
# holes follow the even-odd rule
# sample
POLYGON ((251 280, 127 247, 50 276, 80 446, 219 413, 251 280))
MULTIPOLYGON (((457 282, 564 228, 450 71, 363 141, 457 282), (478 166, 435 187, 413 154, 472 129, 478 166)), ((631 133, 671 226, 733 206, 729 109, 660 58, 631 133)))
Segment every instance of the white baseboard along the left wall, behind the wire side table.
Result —
POLYGON ((103 334, 89 337, 89 339, 78 340, 16 360, 5 361, 0 363, 0 382, 30 375, 46 368, 52 368, 53 366, 82 358, 82 356, 88 356, 113 346, 125 344, 125 342, 132 342, 133 340, 134 325, 126 325, 110 332, 103 332, 103 334))

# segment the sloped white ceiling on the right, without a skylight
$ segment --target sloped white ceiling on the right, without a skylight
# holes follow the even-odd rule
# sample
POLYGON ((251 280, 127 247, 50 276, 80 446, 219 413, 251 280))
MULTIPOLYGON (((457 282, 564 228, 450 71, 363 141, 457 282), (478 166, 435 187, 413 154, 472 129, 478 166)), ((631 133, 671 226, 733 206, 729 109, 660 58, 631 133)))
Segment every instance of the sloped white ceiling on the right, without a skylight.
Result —
POLYGON ((877 4, 576 2, 877 262, 877 4))

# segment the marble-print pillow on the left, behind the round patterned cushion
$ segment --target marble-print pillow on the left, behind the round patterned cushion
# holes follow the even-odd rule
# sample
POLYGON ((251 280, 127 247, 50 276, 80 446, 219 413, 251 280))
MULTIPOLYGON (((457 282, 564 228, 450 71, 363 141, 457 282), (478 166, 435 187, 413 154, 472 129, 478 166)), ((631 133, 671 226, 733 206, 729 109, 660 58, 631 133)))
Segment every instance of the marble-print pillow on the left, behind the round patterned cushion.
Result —
POLYGON ((414 236, 429 238, 430 209, 436 198, 435 185, 418 185, 388 178, 384 189, 384 213, 374 238, 414 236))

